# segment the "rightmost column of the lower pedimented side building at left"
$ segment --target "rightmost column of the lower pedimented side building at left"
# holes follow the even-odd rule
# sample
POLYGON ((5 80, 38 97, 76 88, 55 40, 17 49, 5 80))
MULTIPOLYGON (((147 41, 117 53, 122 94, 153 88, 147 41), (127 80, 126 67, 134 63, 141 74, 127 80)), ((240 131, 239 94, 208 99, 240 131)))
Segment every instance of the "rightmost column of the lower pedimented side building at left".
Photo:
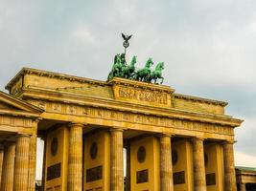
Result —
POLYGON ((14 191, 28 189, 30 136, 19 135, 16 140, 14 191))

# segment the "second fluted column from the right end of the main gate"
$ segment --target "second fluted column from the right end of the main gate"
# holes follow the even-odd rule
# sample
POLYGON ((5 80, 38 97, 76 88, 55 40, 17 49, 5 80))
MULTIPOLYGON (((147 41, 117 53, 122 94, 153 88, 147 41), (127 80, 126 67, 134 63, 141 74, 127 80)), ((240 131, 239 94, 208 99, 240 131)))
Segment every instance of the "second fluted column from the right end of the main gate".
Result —
POLYGON ((194 190, 206 191, 203 138, 193 138, 194 190))

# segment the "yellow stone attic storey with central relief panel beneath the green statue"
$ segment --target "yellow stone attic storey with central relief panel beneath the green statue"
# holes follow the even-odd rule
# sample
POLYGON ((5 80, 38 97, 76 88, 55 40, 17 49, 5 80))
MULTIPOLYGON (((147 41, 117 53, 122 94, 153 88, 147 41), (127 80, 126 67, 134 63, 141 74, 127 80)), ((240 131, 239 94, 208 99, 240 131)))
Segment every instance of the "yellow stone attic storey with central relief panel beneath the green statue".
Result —
POLYGON ((224 115, 226 102, 175 94, 169 86, 156 85, 123 78, 110 81, 93 80, 68 74, 58 74, 24 68, 6 86, 12 95, 19 96, 23 89, 37 87, 68 92, 80 96, 92 96, 150 105, 159 108, 176 108, 191 112, 224 115))

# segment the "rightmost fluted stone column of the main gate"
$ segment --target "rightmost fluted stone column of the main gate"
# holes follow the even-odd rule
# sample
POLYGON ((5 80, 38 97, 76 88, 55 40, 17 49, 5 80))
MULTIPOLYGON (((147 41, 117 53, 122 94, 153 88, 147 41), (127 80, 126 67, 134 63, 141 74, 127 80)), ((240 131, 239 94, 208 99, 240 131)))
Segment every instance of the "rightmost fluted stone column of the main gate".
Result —
POLYGON ((223 143, 225 191, 237 190, 233 143, 233 141, 223 143))

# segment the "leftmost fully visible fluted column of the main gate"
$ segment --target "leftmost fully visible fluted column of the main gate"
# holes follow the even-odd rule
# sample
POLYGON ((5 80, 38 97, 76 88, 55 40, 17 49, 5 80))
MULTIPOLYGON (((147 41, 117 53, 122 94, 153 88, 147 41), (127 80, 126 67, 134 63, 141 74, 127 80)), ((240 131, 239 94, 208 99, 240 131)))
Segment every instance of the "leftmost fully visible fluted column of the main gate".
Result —
POLYGON ((82 190, 82 124, 71 123, 68 154, 68 191, 82 190))

